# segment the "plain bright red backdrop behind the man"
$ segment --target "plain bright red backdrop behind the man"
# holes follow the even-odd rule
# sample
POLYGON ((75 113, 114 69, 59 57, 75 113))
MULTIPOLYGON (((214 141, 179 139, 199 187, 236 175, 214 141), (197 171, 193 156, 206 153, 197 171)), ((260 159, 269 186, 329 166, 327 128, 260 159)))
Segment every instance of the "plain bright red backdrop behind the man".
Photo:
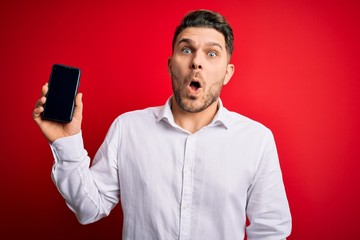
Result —
POLYGON ((356 238, 360 4, 340 0, 2 1, 1 238, 121 239, 120 206, 87 226, 66 207, 31 113, 53 63, 80 67, 92 157, 117 115, 170 96, 173 31, 198 8, 219 11, 234 29, 236 72, 222 100, 275 135, 289 239, 356 238))

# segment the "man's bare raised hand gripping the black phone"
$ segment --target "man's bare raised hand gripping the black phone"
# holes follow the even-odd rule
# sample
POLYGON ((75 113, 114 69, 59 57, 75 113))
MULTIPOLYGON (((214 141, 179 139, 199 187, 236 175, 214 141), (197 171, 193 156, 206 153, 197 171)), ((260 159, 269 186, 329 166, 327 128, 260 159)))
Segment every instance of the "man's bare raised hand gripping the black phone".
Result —
POLYGON ((33 119, 40 127, 40 130, 45 135, 46 139, 52 143, 58 138, 75 135, 81 130, 82 121, 82 94, 78 93, 75 98, 75 110, 73 119, 70 123, 60 123, 55 121, 44 120, 41 118, 41 113, 44 111, 44 104, 46 102, 46 93, 48 91, 48 84, 46 83, 41 89, 41 98, 36 102, 33 111, 33 119))

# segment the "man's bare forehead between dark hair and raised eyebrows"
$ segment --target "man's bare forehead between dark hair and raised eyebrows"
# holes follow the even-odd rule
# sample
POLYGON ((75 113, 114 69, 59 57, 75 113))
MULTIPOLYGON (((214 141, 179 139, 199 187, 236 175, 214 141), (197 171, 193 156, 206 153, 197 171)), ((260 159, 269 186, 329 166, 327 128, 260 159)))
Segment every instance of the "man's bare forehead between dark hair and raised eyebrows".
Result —
POLYGON ((182 39, 190 39, 194 44, 218 43, 225 47, 225 37, 219 31, 206 27, 185 28, 176 38, 176 45, 182 39))

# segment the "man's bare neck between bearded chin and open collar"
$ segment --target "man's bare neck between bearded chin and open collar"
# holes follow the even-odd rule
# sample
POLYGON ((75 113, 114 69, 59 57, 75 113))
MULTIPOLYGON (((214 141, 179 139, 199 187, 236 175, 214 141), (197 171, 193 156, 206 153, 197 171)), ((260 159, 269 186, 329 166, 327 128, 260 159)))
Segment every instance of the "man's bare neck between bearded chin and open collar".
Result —
POLYGON ((219 100, 216 100, 205 110, 201 112, 191 113, 181 109, 174 100, 174 98, 172 98, 171 111, 174 116, 174 121, 177 125, 191 133, 195 133, 201 128, 208 125, 213 120, 218 110, 218 103, 219 100))

